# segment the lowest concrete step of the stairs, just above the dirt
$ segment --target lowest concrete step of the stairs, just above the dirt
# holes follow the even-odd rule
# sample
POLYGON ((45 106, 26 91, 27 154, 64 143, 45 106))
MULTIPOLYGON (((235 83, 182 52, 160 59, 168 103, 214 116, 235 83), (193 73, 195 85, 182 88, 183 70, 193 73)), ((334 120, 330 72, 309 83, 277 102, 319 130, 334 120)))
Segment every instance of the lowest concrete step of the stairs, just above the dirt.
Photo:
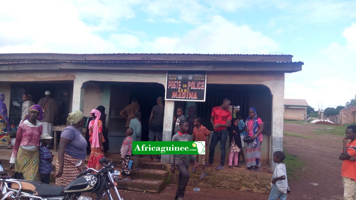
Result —
POLYGON ((117 188, 139 191, 139 192, 149 192, 149 193, 160 193, 164 188, 166 188, 167 183, 159 180, 150 179, 135 179, 132 181, 117 181, 117 188))

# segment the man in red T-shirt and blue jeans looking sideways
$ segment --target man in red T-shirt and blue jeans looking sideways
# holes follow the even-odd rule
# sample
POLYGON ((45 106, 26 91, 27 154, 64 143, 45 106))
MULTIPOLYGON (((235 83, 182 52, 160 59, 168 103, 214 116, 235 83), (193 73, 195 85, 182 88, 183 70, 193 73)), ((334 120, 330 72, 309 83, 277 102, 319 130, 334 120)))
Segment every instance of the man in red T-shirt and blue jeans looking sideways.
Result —
POLYGON ((220 141, 220 149, 221 149, 221 158, 220 165, 216 166, 215 169, 225 169, 225 156, 226 156, 226 140, 227 135, 227 127, 231 126, 231 112, 229 111, 229 106, 231 105, 231 100, 226 98, 223 101, 221 106, 213 107, 211 111, 210 122, 214 126, 213 136, 211 136, 211 142, 209 147, 209 163, 206 163, 205 166, 211 167, 213 166, 215 147, 218 145, 220 141))

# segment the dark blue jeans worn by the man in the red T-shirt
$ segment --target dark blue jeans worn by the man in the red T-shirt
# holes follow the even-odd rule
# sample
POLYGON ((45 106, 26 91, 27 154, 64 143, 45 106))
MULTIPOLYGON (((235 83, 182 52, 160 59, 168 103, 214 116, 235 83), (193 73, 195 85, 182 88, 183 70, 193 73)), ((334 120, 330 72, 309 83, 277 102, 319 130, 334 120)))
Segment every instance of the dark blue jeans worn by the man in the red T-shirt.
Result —
POLYGON ((213 136, 211 136, 211 142, 209 147, 209 163, 213 164, 214 161, 214 154, 215 154, 215 147, 218 145, 220 141, 220 149, 221 149, 221 158, 220 158, 220 165, 224 166, 225 163, 225 156, 226 156, 226 140, 227 140, 227 129, 225 128, 222 131, 214 131, 213 136))

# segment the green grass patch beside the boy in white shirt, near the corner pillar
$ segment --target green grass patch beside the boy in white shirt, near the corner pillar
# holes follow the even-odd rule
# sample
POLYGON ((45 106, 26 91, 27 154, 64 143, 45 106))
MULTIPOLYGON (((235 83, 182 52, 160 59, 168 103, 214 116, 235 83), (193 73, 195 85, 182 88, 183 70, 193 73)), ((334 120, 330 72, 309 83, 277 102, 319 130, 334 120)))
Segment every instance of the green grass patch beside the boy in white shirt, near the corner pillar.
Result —
POLYGON ((302 170, 304 168, 305 163, 298 157, 288 154, 288 152, 286 151, 284 151, 284 154, 286 155, 286 158, 283 160, 283 163, 286 164, 288 179, 299 180, 297 170, 302 170))

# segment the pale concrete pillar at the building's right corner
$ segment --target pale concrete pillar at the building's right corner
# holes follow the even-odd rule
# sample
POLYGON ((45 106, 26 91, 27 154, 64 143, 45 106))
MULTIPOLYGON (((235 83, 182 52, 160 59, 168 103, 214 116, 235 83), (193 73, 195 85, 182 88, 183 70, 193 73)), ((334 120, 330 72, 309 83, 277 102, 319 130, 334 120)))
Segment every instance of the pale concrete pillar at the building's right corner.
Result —
POLYGON ((273 162, 273 153, 283 151, 284 80, 268 81, 265 85, 272 93, 272 149, 269 158, 274 170, 277 163, 273 162))

